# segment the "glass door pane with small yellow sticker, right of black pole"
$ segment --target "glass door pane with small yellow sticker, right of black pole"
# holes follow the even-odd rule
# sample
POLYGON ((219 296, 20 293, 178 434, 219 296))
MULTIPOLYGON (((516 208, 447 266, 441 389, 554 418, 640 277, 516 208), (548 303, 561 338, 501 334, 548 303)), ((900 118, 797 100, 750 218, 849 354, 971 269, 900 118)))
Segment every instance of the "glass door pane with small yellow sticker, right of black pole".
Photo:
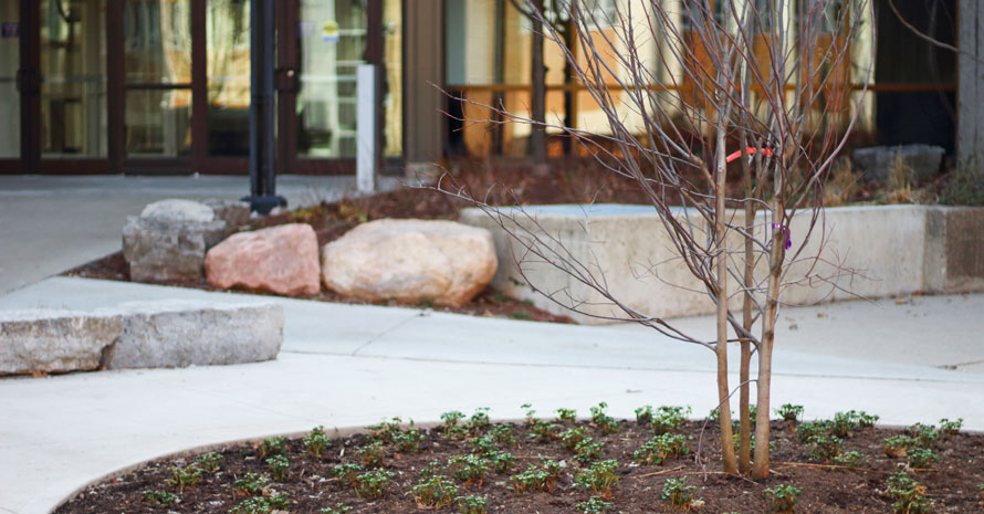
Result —
POLYGON ((366 48, 364 6, 360 0, 301 0, 301 157, 355 157, 355 76, 366 48))

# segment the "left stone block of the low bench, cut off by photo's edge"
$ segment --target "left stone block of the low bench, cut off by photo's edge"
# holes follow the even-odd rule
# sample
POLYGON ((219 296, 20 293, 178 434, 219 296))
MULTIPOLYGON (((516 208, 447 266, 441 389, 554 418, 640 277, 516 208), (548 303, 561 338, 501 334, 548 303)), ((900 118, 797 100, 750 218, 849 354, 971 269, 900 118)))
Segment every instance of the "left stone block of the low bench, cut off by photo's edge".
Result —
POLYGON ((122 332, 113 313, 0 311, 0 374, 98 369, 122 332))

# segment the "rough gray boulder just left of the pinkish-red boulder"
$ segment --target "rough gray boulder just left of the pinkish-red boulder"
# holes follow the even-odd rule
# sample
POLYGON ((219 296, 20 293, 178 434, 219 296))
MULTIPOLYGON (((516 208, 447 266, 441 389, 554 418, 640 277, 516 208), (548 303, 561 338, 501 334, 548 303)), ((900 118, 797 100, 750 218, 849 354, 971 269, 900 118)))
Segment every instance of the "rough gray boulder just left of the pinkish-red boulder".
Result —
POLYGON ((123 227, 123 255, 137 282, 199 280, 205 252, 222 240, 227 223, 203 203, 169 199, 148 204, 123 227))

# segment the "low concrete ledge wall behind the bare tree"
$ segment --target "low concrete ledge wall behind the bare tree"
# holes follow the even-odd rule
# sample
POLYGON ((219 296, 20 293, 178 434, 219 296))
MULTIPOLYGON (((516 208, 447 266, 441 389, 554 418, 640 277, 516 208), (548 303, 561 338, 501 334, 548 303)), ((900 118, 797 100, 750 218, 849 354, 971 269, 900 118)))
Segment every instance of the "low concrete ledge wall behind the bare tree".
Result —
MULTIPOLYGON (((702 220, 691 216, 693 230, 706 233, 702 220)), ((492 285, 505 294, 532 301, 537 307, 568 315, 578 323, 605 323, 595 316, 625 315, 596 291, 568 273, 537 259, 520 259, 524 246, 512 240, 480 209, 465 209, 463 223, 489 229, 499 256, 499 271, 492 285), (525 276, 525 279, 524 279, 525 276), (585 314, 572 313, 536 294, 526 283, 555 293, 557 298, 579 306, 585 314)), ((710 314, 713 303, 677 258, 656 211, 648 206, 534 206, 503 209, 502 221, 521 232, 528 230, 548 241, 546 248, 566 248, 570 260, 587 272, 604 276, 609 291, 620 302, 650 316, 679 317, 710 314), (509 220, 506 216, 512 216, 509 220)), ((743 224, 741 212, 730 216, 743 224)), ((791 223, 794 250, 804 243, 808 213, 791 223), (800 238, 797 240, 797 238, 800 238)), ((764 217, 756 230, 767 227, 764 217)), ((726 240, 730 251, 740 253, 742 241, 726 240)), ((984 291, 984 209, 939 206, 884 206, 830 208, 817 221, 806 241, 802 259, 789 268, 781 301, 787 305, 809 305, 851 297, 884 297, 914 292, 959 293, 984 291)), ((764 262, 756 272, 764 276, 764 262)), ((733 290, 732 290, 733 291, 733 290)), ((734 295, 732 308, 740 308, 734 295)))

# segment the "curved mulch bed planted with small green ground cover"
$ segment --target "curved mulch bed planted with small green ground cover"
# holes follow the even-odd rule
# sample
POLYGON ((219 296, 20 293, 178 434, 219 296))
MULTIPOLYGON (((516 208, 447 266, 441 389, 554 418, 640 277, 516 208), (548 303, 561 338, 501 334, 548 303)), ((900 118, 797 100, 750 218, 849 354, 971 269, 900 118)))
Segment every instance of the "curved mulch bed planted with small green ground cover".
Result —
POLYGON ((682 411, 642 407, 640 412, 649 417, 605 420, 607 430, 568 416, 573 412, 568 410, 564 419, 547 422, 533 413, 526 422, 513 424, 493 422, 485 418, 488 409, 480 409, 477 413, 484 416, 471 427, 470 418, 449 411, 433 429, 398 424, 392 418, 363 434, 328 439, 315 453, 312 441, 331 434, 318 427, 293 440, 271 438, 155 461, 87 487, 55 512, 962 514, 984 510, 984 436, 961 432, 945 419, 903 430, 856 427, 837 450, 824 454, 816 453, 809 439, 838 438, 835 420, 857 413, 845 411, 809 423, 775 419, 771 476, 752 481, 709 465, 721 455, 715 423, 684 419, 669 430, 652 423, 656 412, 682 411), (454 428, 464 429, 464 434, 454 428), (809 437, 799 437, 800 430, 809 437), (919 437, 932 432, 935 438, 919 437), (412 448, 400 445, 407 433, 418 434, 412 448), (597 455, 576 459, 563 434, 599 443, 597 455), (899 437, 910 439, 912 450, 932 451, 938 457, 933 466, 888 454, 886 441, 899 437), (367 453, 379 458, 367 461, 367 453), (829 459, 830 453, 859 457, 840 462, 829 459), (496 463, 495 458, 505 454, 510 458, 496 463), (269 460, 287 462, 286 472, 276 476, 269 460))

